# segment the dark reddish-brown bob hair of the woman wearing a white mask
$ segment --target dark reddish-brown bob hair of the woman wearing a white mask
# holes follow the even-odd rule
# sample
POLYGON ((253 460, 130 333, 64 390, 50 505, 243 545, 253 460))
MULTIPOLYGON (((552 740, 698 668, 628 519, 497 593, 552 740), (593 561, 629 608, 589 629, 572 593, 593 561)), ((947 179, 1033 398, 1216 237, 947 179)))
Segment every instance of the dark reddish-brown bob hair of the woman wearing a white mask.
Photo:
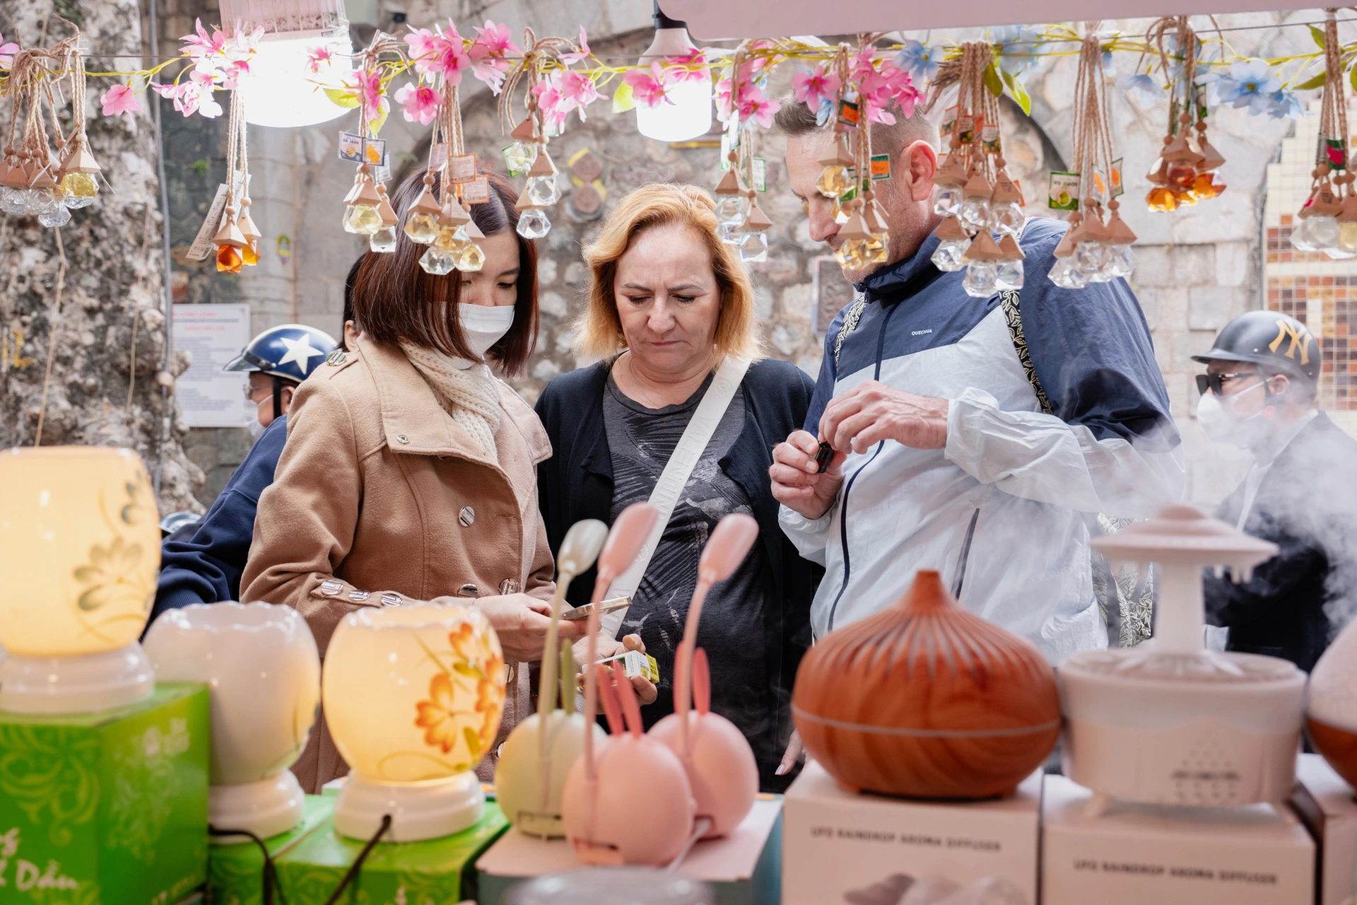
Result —
MULTIPOLYGON (((537 345, 537 243, 517 235, 518 193, 501 174, 482 170, 490 179, 490 201, 471 205, 471 218, 487 236, 506 229, 518 240, 518 299, 514 301, 513 327, 486 353, 499 362, 506 374, 520 374, 537 345)), ((396 227, 396 250, 362 256, 353 281, 353 312, 365 334, 379 342, 408 342, 436 349, 446 355, 479 361, 471 351, 457 323, 461 296, 461 271, 434 277, 419 266, 426 246, 404 233, 410 206, 423 190, 425 170, 410 175, 391 195, 400 223, 396 227), (445 299, 446 301, 438 301, 445 299)), ((433 190, 440 178, 434 174, 433 190)))

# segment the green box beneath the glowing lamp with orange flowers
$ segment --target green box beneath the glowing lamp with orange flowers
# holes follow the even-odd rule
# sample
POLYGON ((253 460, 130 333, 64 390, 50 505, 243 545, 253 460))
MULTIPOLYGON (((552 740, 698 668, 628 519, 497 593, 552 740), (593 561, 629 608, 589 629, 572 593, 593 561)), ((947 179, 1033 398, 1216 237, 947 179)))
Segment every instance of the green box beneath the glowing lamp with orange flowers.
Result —
MULTIPOLYGON (((327 801, 332 801, 327 796, 327 801)), ((453 905, 475 897, 476 858, 508 829, 499 806, 486 802, 475 826, 422 843, 379 843, 342 905, 453 905)), ((358 858, 364 843, 346 839, 327 821, 277 860, 280 901, 324 905, 358 858)))

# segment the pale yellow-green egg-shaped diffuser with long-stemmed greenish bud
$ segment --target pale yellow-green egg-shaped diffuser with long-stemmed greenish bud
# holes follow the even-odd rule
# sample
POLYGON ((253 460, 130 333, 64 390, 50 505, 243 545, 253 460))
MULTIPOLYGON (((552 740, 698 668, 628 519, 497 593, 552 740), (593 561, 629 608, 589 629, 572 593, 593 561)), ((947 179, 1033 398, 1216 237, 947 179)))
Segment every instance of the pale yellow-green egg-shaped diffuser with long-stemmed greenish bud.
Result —
MULTIPOLYGON (((551 625, 543 650, 555 651, 566 590, 575 575, 593 566, 607 539, 608 525, 594 518, 575 522, 566 532, 556 554, 556 594, 551 601, 551 625)), ((556 658, 548 654, 541 659, 537 712, 514 726, 495 761, 499 809, 514 829, 544 839, 566 834, 560 825, 560 792, 570 768, 585 749, 586 723, 584 714, 574 712, 575 672, 569 644, 560 658, 562 710, 555 707, 556 658)), ((596 738, 603 738, 597 723, 590 729, 596 738)))

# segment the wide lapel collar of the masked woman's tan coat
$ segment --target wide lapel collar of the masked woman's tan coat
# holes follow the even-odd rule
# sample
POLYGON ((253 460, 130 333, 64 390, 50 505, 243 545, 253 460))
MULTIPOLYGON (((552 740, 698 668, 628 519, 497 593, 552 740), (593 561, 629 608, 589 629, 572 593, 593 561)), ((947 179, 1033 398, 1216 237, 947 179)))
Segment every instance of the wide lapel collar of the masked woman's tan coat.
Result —
MULTIPOLYGON (((381 430, 392 452, 457 456, 487 465, 499 465, 444 410, 433 388, 398 346, 362 335, 358 338, 358 351, 368 365, 372 383, 377 387, 381 430)), ((533 461, 548 459, 551 442, 528 403, 501 380, 495 381, 495 391, 503 411, 499 429, 495 431, 497 444, 502 448, 501 440, 506 436, 505 431, 516 431, 527 441, 533 461)))

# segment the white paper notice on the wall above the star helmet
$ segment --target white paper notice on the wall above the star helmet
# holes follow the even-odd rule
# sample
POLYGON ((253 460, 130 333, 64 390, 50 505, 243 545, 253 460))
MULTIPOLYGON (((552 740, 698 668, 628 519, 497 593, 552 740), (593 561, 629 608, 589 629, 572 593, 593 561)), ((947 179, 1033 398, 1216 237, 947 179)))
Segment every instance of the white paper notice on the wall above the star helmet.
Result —
POLYGON ((223 370, 250 342, 250 305, 175 305, 174 347, 193 354, 175 393, 190 427, 243 427, 242 387, 250 377, 223 370))

